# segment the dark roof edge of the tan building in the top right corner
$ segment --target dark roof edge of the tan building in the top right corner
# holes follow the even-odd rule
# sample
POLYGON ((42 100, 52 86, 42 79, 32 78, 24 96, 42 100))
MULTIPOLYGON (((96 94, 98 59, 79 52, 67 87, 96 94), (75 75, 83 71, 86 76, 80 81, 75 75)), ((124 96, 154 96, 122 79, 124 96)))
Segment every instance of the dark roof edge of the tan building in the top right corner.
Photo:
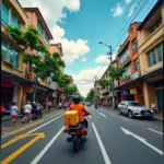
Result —
POLYGON ((140 31, 145 25, 145 23, 149 21, 150 17, 152 17, 153 13, 160 8, 160 5, 162 3, 164 4, 163 0, 157 0, 157 2, 155 3, 155 5, 153 7, 153 9, 149 12, 149 14, 145 16, 145 19, 143 20, 143 22, 138 27, 138 31, 140 31))

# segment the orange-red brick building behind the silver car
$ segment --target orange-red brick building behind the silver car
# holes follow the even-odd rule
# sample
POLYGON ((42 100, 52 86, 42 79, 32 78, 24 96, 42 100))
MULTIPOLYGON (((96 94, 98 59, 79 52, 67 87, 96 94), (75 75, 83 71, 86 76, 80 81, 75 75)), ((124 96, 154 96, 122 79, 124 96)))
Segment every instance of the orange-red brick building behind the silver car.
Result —
MULTIPOLYGON (((126 72, 119 81, 121 101, 138 101, 143 104, 143 86, 140 80, 139 54, 138 54, 138 27, 140 23, 132 23, 129 34, 120 45, 117 59, 118 67, 125 68, 126 72)), ((119 102, 118 102, 119 103, 119 102)))

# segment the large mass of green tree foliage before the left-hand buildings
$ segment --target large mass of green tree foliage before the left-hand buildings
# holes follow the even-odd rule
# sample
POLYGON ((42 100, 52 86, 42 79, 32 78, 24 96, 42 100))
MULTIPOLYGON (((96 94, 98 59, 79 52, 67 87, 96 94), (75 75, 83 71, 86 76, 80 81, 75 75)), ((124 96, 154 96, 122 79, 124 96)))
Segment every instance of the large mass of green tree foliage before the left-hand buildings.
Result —
POLYGON ((65 67, 65 62, 60 59, 58 52, 54 52, 51 56, 47 48, 39 44, 39 33, 35 27, 28 27, 25 32, 22 32, 17 27, 7 27, 10 36, 21 46, 25 48, 23 61, 30 62, 33 66, 32 71, 35 72, 37 78, 46 80, 51 77, 55 82, 61 82, 61 86, 66 86, 70 83, 67 75, 61 75, 60 67, 65 67), (27 54, 27 49, 35 49, 44 52, 44 60, 39 57, 27 54))

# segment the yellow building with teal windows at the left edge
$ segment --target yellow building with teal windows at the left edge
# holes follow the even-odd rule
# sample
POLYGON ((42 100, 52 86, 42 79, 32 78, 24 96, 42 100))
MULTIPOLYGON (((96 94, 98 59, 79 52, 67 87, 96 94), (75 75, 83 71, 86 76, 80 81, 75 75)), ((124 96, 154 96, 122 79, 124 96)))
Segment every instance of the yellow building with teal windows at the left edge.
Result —
POLYGON ((17 0, 2 0, 1 5, 1 102, 7 106, 16 102, 19 109, 22 106, 23 86, 31 81, 24 78, 22 62, 23 48, 7 33, 7 25, 16 26, 24 31, 28 17, 17 0))

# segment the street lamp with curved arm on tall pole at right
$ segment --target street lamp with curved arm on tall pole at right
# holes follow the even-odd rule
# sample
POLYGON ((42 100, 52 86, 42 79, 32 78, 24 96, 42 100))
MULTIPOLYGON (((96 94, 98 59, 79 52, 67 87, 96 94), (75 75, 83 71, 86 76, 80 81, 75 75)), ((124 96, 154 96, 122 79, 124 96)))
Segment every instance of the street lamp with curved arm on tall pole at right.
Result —
MULTIPOLYGON (((107 56, 108 56, 108 59, 110 60, 110 66, 109 66, 109 68, 112 67, 112 55, 113 55, 113 50, 112 50, 112 46, 110 45, 107 45, 107 44, 105 44, 105 43, 103 43, 103 42, 99 42, 98 44, 101 44, 101 45, 104 45, 104 46, 106 46, 106 47, 108 47, 109 48, 109 52, 107 52, 107 56)), ((115 96, 114 96, 114 79, 112 78, 112 93, 113 93, 113 107, 115 107, 115 96)))

